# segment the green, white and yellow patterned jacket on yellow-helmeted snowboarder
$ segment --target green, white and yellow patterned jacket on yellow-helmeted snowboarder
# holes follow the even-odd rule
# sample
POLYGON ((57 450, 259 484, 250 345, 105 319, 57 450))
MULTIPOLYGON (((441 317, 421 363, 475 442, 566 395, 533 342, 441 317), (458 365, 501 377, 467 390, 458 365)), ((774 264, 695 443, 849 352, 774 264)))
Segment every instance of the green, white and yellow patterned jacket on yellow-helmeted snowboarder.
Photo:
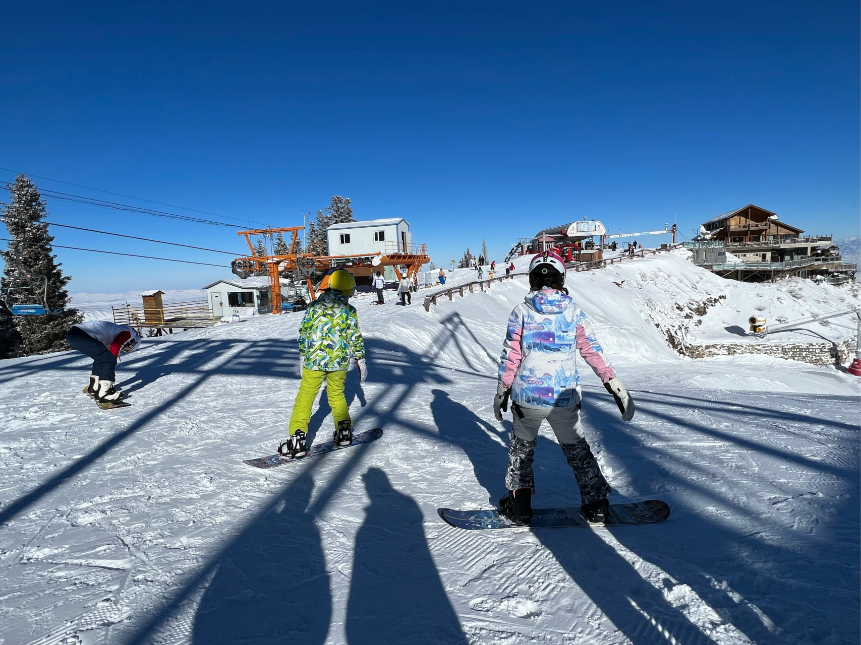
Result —
POLYGON ((302 366, 319 372, 341 372, 350 358, 365 357, 356 307, 341 292, 326 291, 308 305, 299 328, 302 366))

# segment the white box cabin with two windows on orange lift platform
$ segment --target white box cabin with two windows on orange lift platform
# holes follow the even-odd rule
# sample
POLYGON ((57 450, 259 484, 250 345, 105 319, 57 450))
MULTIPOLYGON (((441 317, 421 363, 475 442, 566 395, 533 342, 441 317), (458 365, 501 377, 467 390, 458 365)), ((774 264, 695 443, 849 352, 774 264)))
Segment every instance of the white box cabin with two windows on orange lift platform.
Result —
POLYGON ((410 224, 404 218, 332 224, 326 229, 329 255, 413 253, 410 224))

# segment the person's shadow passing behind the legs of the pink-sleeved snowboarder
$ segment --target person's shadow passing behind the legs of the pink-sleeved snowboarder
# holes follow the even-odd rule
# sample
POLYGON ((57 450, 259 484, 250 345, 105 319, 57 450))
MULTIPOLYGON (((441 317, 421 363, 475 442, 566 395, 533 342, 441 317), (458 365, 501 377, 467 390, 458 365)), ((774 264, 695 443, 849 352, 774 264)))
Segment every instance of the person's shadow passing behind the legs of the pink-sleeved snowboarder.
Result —
MULTIPOLYGON (((484 429, 488 424, 468 408, 449 399, 442 390, 434 390, 433 394, 431 407, 441 436, 461 446, 473 463, 481 486, 490 491, 493 498, 499 499, 505 492, 507 447, 493 440, 484 429)), ((492 432, 500 435, 496 430, 492 432)), ((559 445, 539 436, 536 445, 536 507, 549 506, 540 500, 542 497, 558 498, 561 487, 576 489, 573 473, 568 469, 559 445), (542 484, 543 480, 548 481, 547 486, 542 484), (550 489, 549 494, 542 494, 544 488, 550 489)), ((579 500, 574 495, 573 499, 569 497, 557 503, 575 506, 579 500)), ((649 526, 634 530, 660 531, 661 528, 665 527, 649 526)), ((660 591, 644 581, 622 556, 592 531, 583 528, 543 529, 535 531, 535 535, 592 602, 635 645, 666 643, 667 638, 637 611, 629 599, 634 599, 678 642, 685 645, 713 644, 681 612, 668 605, 660 591)))

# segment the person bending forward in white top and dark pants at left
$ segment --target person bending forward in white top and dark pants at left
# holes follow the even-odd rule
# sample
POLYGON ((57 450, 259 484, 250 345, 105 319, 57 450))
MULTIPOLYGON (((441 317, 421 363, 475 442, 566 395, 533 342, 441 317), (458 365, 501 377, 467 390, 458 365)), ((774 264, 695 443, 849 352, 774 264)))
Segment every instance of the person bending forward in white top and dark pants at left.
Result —
POLYGON ((122 392, 114 388, 116 359, 120 352, 129 353, 140 347, 140 336, 133 327, 107 320, 88 320, 73 325, 65 335, 70 347, 93 359, 90 384, 84 393, 90 395, 99 408, 121 407, 122 392))

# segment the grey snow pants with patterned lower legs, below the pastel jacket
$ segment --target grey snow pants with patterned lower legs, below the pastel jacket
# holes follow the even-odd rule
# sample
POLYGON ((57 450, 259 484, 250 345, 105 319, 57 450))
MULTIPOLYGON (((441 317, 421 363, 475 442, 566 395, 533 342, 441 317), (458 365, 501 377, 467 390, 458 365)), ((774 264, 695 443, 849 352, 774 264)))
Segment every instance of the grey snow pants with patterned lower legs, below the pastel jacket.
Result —
POLYGON ((610 494, 610 484, 601 474, 595 456, 583 434, 580 424, 580 406, 574 408, 521 408, 513 405, 514 424, 508 446, 508 470, 505 473, 505 488, 532 488, 535 493, 536 437, 542 421, 547 419, 559 439, 559 445, 580 489, 583 504, 593 504, 610 494))

